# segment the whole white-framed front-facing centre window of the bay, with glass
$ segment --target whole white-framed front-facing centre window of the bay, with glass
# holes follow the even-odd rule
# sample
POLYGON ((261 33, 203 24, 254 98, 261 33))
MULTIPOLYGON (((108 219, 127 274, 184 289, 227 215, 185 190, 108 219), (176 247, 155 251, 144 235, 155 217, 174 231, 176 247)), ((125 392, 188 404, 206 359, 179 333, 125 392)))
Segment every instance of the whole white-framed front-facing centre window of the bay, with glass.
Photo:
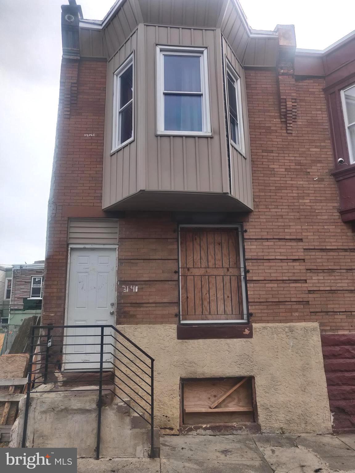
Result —
POLYGON ((157 132, 211 135, 207 48, 157 46, 157 132))

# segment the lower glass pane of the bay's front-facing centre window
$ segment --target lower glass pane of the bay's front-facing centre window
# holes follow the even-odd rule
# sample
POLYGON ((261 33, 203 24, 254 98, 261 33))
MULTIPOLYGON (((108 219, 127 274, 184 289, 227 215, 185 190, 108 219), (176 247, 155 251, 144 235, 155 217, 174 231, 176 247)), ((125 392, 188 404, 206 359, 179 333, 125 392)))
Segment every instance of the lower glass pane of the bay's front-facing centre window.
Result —
POLYGON ((164 130, 202 131, 202 96, 165 95, 164 130))

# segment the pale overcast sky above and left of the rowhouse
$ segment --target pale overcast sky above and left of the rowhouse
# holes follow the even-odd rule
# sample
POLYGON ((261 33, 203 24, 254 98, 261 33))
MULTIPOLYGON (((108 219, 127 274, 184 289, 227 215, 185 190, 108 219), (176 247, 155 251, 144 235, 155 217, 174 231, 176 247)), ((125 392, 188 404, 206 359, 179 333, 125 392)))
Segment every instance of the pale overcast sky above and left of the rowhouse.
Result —
MULTIPOLYGON (((0 0, 0 263, 44 259, 63 3, 0 0)), ((102 19, 114 0, 77 3, 84 18, 102 19)), ((294 24, 299 48, 324 49, 355 25, 355 0, 240 3, 252 28, 294 24)))

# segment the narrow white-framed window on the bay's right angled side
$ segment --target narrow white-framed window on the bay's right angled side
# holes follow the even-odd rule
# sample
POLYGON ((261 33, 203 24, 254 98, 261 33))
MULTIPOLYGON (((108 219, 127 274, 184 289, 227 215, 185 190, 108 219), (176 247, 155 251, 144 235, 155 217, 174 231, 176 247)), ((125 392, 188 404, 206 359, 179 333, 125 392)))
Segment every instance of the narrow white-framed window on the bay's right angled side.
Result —
POLYGON ((225 80, 228 107, 229 139, 241 153, 244 153, 244 131, 240 77, 228 61, 226 61, 225 80))

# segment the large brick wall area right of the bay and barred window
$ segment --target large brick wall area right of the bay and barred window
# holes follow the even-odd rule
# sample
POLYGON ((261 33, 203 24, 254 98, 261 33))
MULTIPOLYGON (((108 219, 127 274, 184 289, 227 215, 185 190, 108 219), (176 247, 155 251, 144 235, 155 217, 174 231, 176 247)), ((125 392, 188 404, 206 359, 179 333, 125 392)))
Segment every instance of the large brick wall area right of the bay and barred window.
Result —
POLYGON ((245 224, 249 309, 257 322, 319 321, 355 331, 355 247, 338 213, 322 79, 296 82, 293 133, 277 75, 247 70, 254 212, 245 224))

